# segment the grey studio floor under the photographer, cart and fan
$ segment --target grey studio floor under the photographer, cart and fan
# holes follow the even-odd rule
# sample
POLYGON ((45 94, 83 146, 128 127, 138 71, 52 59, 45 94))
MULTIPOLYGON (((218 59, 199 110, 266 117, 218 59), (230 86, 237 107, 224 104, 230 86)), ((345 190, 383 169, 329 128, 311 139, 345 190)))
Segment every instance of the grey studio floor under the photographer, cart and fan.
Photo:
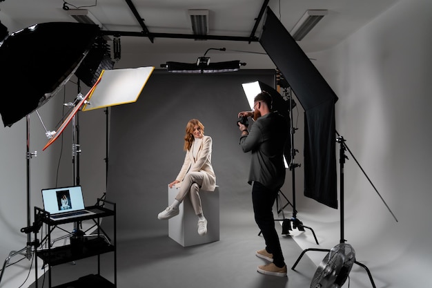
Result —
MULTIPOLYGON (((285 213, 285 216, 289 218, 291 213, 285 213)), ((326 253, 308 251, 300 258, 295 270, 291 268, 304 249, 331 249, 334 244, 337 244, 335 240, 337 241, 339 236, 339 226, 336 221, 330 225, 332 229, 324 229, 329 227, 328 223, 314 222, 313 218, 316 217, 307 211, 301 213, 300 217, 305 226, 310 226, 315 231, 320 244, 314 244, 311 230, 294 229, 290 232, 290 236, 284 236, 281 222, 275 222, 288 268, 288 277, 266 276, 257 272, 257 266, 266 263, 265 260, 255 256, 255 251, 264 248, 264 238, 259 236, 250 209, 221 213, 220 240, 189 247, 183 247, 168 236, 168 222, 162 224, 162 226, 166 224, 166 229, 162 229, 163 233, 159 235, 154 231, 153 235, 150 235, 148 231, 119 230, 117 231, 117 287, 310 287, 317 267, 326 253)), ((321 219, 323 218, 324 216, 321 219)), ((85 228, 86 223, 83 224, 85 228)), ((355 245, 355 247, 359 246, 355 245)), ((377 287, 390 287, 389 277, 385 277, 386 273, 382 271, 388 266, 364 262, 363 254, 363 252, 359 253, 359 261, 365 265, 374 264, 370 267, 377 287)), ((101 256, 101 275, 111 282, 114 282, 113 255, 113 253, 106 253, 101 256)), ((26 259, 10 265, 4 273, 0 288, 35 287, 34 265, 32 269, 30 265, 31 261, 26 259)), ((388 270, 388 273, 391 273, 391 269, 388 270)), ((52 267, 51 272, 52 286, 55 287, 77 280, 81 276, 97 274, 97 258, 92 257, 55 266, 52 267)), ((41 268, 41 260, 38 261, 38 274, 39 287, 49 287, 48 269, 41 268), (43 275, 44 271, 45 275, 43 275)), ((343 287, 369 288, 372 285, 366 271, 354 265, 343 287)))

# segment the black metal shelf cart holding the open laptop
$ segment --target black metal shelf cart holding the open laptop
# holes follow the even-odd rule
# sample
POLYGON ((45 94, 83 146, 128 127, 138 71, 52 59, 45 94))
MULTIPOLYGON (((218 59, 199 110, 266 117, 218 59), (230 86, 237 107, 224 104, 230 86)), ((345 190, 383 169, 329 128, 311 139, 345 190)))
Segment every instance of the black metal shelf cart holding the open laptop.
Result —
MULTIPOLYGON (((50 288, 69 288, 69 287, 79 287, 79 288, 111 288, 117 287, 117 247, 116 247, 116 207, 115 203, 109 202, 107 200, 97 199, 97 204, 92 207, 86 207, 87 210, 94 212, 91 215, 79 216, 76 218, 71 218, 68 220, 52 220, 50 218, 50 213, 47 211, 35 207, 35 222, 39 224, 46 224, 46 232, 39 233, 35 231, 35 239, 39 243, 46 242, 46 248, 41 248, 41 245, 36 247, 36 258, 35 265, 37 267, 38 258, 43 261, 43 265, 48 265, 48 287, 50 288), (109 207, 109 208, 107 208, 109 207), (111 234, 112 239, 108 236, 108 233, 104 231, 101 227, 101 218, 111 218, 113 221, 113 231, 111 234), (95 228, 91 235, 86 235, 79 231, 73 231, 70 233, 70 244, 66 244, 60 247, 52 247, 51 233, 55 229, 58 229, 59 224, 66 223, 80 223, 84 220, 92 220, 94 222, 95 228), (39 233, 39 235, 38 235, 39 233), (75 233, 75 234, 74 234, 75 233), (38 238, 39 236, 39 238, 38 238), (101 276, 101 254, 113 253, 114 262, 114 282, 107 280, 101 276), (76 260, 97 257, 97 274, 89 274, 82 276, 75 281, 60 283, 59 285, 52 286, 52 269, 51 267, 62 265, 65 263, 70 263, 76 260)), ((79 226, 79 225, 78 225, 79 226)), ((38 288, 38 276, 37 268, 35 269, 36 275, 36 288, 38 288)))

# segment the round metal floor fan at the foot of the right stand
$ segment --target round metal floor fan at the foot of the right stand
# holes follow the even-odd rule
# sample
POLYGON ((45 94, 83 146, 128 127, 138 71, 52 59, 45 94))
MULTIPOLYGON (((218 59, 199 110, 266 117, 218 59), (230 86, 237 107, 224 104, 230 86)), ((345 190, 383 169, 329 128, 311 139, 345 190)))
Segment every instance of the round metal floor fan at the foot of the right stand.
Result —
POLYGON ((311 288, 340 288, 344 285, 355 262, 355 251, 350 244, 333 247, 315 271, 311 288))

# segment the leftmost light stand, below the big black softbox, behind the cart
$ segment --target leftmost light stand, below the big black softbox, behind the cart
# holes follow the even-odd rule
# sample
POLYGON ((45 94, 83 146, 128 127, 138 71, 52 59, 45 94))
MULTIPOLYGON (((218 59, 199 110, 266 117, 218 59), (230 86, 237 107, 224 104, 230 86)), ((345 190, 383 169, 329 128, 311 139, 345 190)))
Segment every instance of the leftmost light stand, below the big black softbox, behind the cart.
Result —
MULTIPOLYGON (((30 159, 35 156, 37 157, 37 151, 30 153, 30 115, 26 116, 26 158, 27 158, 27 171, 26 171, 26 175, 27 175, 27 194, 26 194, 26 198, 27 198, 27 206, 26 206, 26 213, 27 213, 27 227, 22 228, 21 232, 26 233, 27 234, 27 244, 26 247, 24 247, 23 249, 19 250, 19 251, 11 251, 9 253, 8 258, 6 258, 5 262, 3 263, 3 269, 1 269, 1 274, 0 274, 0 282, 1 282, 1 278, 3 278, 3 273, 6 269, 6 265, 8 265, 9 261, 11 258, 13 258, 14 256, 18 256, 18 255, 23 255, 25 256, 28 260, 32 259, 32 247, 33 246, 37 246, 39 243, 37 240, 35 240, 34 242, 32 242, 32 238, 31 238, 31 232, 35 229, 35 226, 32 227, 30 226, 30 222, 31 222, 31 214, 30 214, 30 202, 31 202, 31 194, 30 194, 30 159)), ((37 269, 37 267, 36 267, 37 269)))

